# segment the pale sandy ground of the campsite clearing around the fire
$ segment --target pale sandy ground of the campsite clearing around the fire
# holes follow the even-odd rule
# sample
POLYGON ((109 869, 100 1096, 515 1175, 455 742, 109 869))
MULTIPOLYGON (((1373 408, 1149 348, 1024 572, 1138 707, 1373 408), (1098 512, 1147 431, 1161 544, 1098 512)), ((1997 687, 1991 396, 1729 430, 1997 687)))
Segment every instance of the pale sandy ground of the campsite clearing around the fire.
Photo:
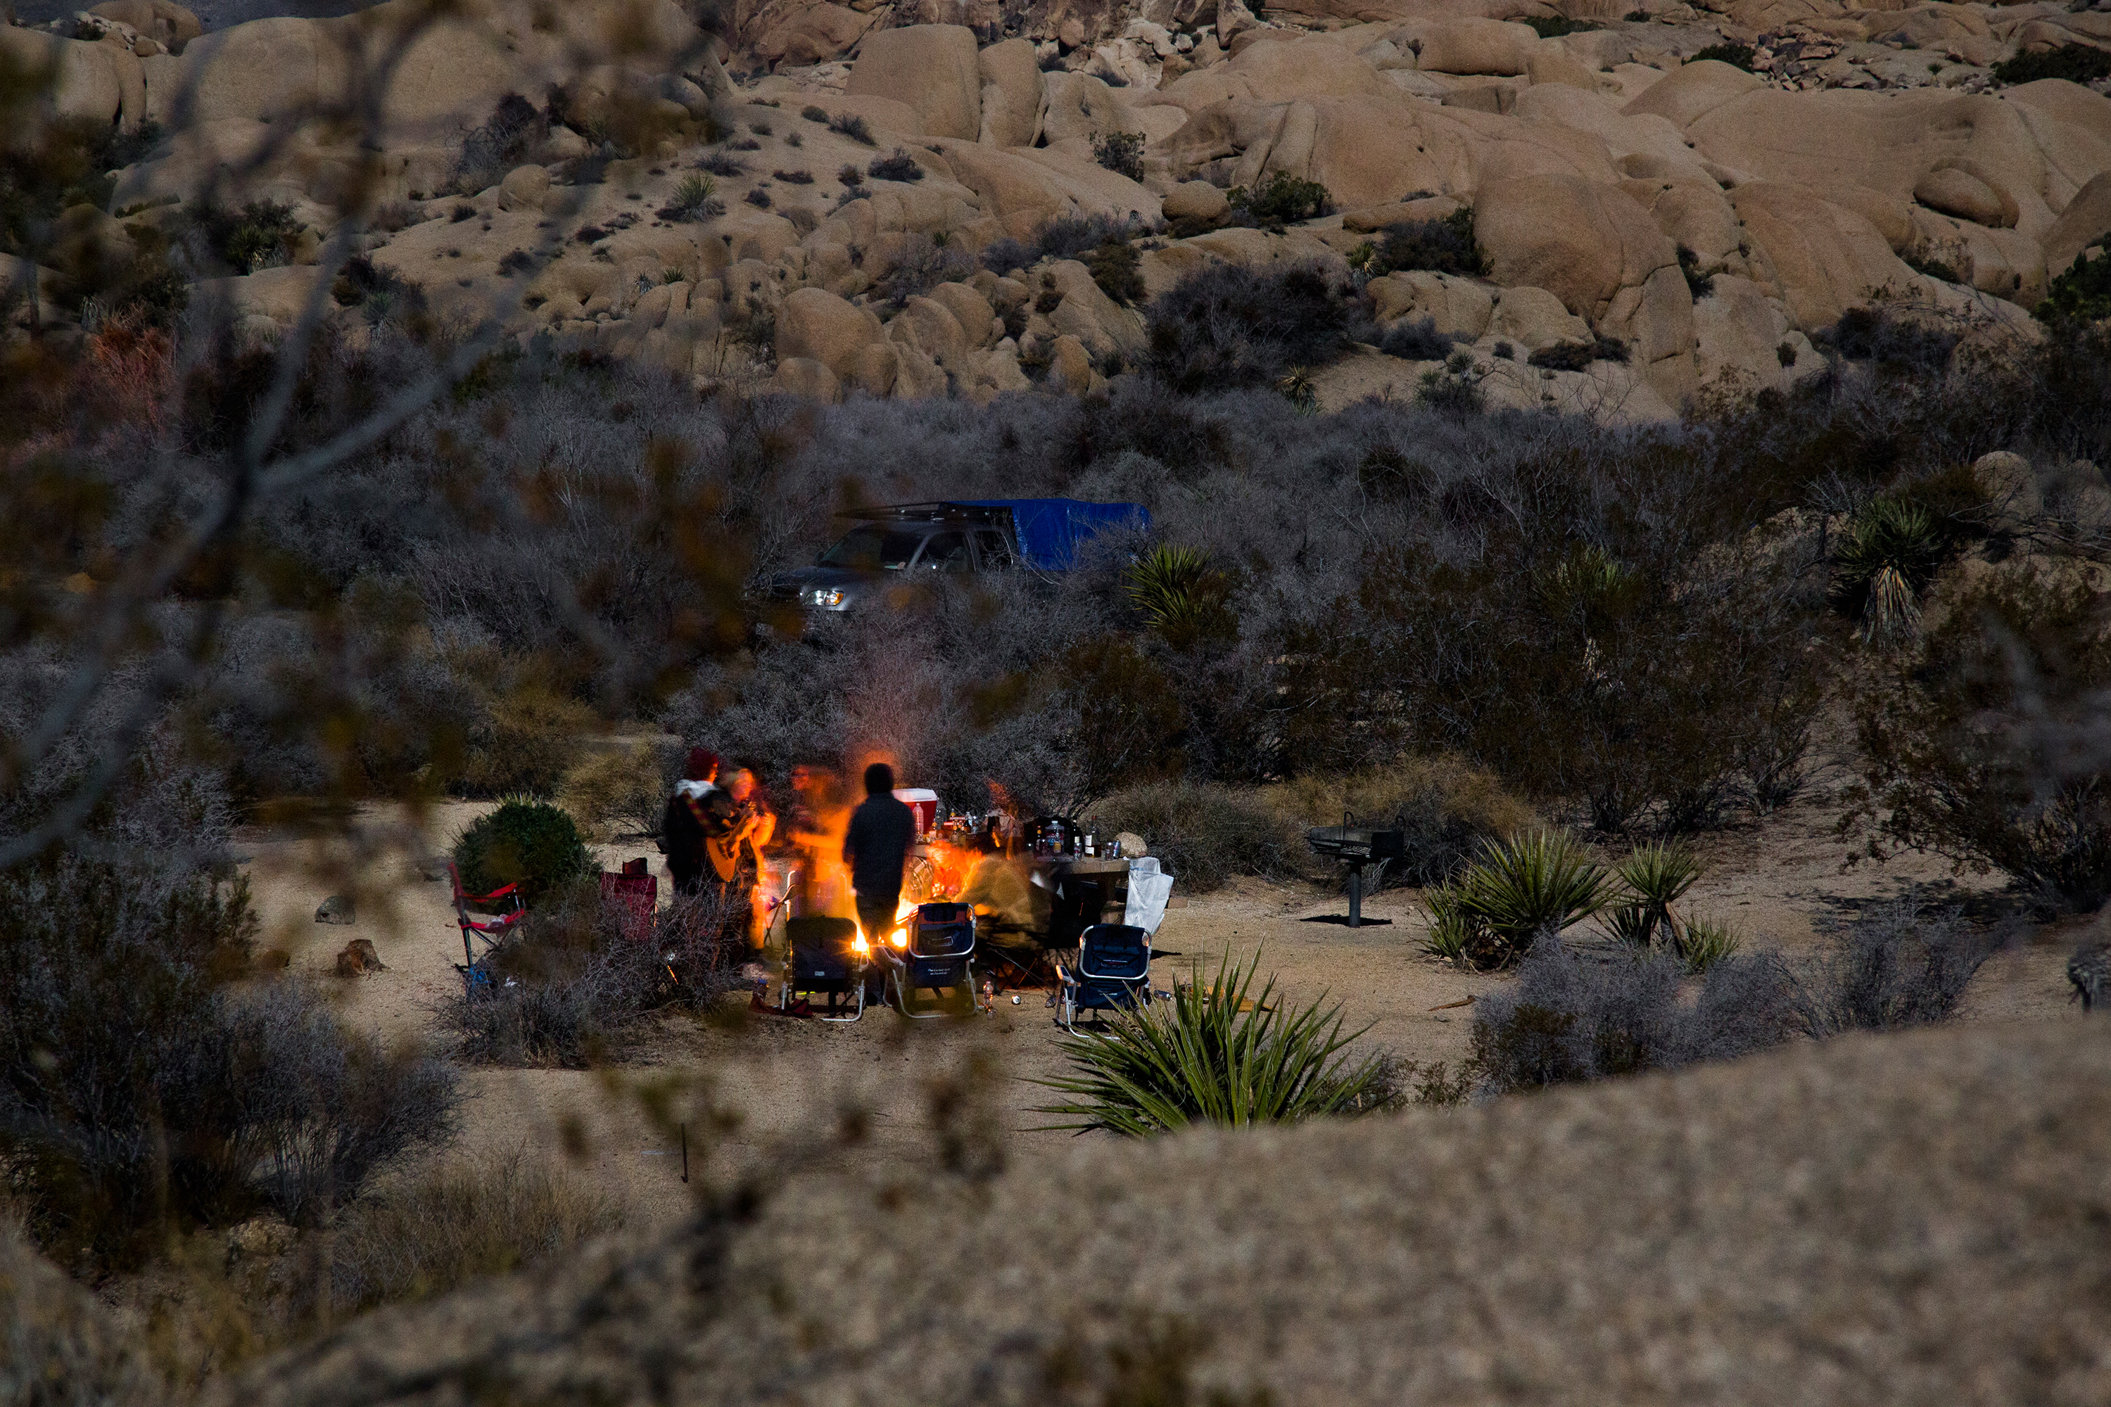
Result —
MULTIPOLYGON (((441 844, 479 812, 471 804, 439 808, 431 835, 441 844)), ((1691 901, 1725 918, 1750 949, 1782 949, 1792 958, 1815 951, 1826 920, 1849 918, 1908 886, 1940 903, 1976 901, 2001 909, 1989 880, 1953 878, 1932 856, 1889 865, 1841 867, 1845 844, 1832 835, 1834 814, 1811 802, 1784 814, 1708 835, 1699 850, 1708 873, 1691 901)), ((363 818, 380 831, 388 816, 363 818)), ((293 970, 331 983, 346 1019, 388 1040, 439 1040, 435 1010, 458 1000, 460 932, 448 884, 422 880, 403 850, 369 852, 348 865, 344 850, 245 833, 266 945, 283 945, 293 970), (336 861, 336 869, 331 869, 336 861), (325 894, 357 873, 363 886, 355 926, 317 924, 325 894), (336 882, 331 880, 336 875, 336 882), (327 977, 346 939, 372 939, 388 970, 361 979, 327 977)), ((648 844, 602 846, 604 865, 650 854, 648 844)), ((661 859, 650 854, 657 873, 661 859)), ((665 884, 665 880, 663 880, 665 884)), ((1178 892, 1178 890, 1176 890, 1178 892)), ((1471 1013, 1448 1006, 1488 991, 1505 977, 1461 972, 1419 951, 1423 924, 1414 894, 1387 890, 1366 901, 1364 928, 1347 928, 1347 903, 1302 884, 1241 882, 1191 897, 1167 913, 1155 964, 1159 987, 1191 964, 1214 968, 1226 953, 1250 960, 1277 979, 1290 1000, 1321 994, 1338 1000, 1349 1029, 1368 1027, 1362 1042, 1412 1061, 1457 1061, 1467 1051, 1471 1013)), ((1974 981, 1963 1019, 2073 1021, 2065 962, 2077 934, 2098 920, 2016 924, 2005 951, 1974 981)), ((469 1069, 471 1103, 464 1152, 568 1156, 608 1196, 621 1200, 633 1226, 680 1215, 695 1192, 722 1186, 735 1169, 785 1169, 878 1158, 906 1169, 929 1167, 935 1148, 931 1086, 963 1076, 973 1061, 994 1067, 982 1080, 990 1114, 1005 1126, 1009 1156, 1032 1156, 1058 1139, 1034 1105, 1051 1093, 1034 1080, 1064 1067, 1064 1036, 1041 994, 999 998, 994 1015, 908 1021, 876 1008, 855 1025, 735 1015, 701 1023, 671 1019, 646 1042, 640 1059, 612 1074, 572 1069, 469 1069), (648 1118, 663 1107, 663 1120, 648 1118), (844 1118, 866 1137, 836 1137, 844 1118), (682 1129, 688 1137, 690 1181, 682 1181, 682 1129), (566 1152, 570 1150, 570 1152, 566 1152)))

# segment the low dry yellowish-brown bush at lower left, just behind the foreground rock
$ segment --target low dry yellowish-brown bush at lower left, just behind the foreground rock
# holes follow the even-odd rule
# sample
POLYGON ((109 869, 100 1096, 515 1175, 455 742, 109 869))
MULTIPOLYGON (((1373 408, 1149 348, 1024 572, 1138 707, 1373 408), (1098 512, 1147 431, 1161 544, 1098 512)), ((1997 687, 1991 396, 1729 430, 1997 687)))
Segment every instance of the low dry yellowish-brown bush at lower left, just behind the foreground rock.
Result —
POLYGON ((365 1312, 511 1274, 623 1228, 623 1209, 526 1154, 448 1160, 344 1209, 329 1302, 365 1312))

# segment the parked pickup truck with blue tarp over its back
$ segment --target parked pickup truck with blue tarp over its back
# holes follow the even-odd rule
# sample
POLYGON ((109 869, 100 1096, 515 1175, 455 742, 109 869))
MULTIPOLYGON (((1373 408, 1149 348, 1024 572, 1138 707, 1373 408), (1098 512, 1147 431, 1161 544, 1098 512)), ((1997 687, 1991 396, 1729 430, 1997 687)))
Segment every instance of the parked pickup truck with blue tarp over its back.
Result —
POLYGON ((1108 527, 1148 527, 1142 504, 1074 498, 965 498, 844 513, 851 532, 811 567, 787 572, 773 595, 817 612, 844 612, 876 591, 927 572, 1068 572, 1077 548, 1108 527))

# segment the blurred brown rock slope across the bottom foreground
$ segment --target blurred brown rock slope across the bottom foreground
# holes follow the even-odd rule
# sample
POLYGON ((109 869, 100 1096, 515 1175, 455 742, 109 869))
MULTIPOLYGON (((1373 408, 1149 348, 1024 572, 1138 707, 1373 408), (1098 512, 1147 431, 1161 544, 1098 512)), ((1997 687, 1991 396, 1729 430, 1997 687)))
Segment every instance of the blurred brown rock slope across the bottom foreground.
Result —
MULTIPOLYGON (((1473 1110, 1089 1139, 982 1179, 933 1148, 863 1181, 771 1177, 741 1207, 378 1312, 209 1401, 2111 1394, 2100 1021, 1858 1036, 1473 1110)), ((70 1289, 0 1240, 0 1302, 44 1283, 70 1289)), ((63 1358, 137 1401, 87 1295, 36 1304, 11 1321, 13 1363, 63 1358)))

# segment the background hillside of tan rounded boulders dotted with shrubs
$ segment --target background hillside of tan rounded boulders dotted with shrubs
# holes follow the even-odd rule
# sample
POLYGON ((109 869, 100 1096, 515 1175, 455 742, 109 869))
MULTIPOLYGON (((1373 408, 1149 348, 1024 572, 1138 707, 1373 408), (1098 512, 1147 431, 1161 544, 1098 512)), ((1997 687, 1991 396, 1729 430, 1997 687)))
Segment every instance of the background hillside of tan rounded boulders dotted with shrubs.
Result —
MULTIPOLYGON (((2111 80, 1995 72, 2111 55, 2107 6, 1628 2, 743 0, 707 34, 673 0, 388 0, 205 34, 112 0, 0 44, 57 65, 65 112, 163 133, 80 243, 291 207, 302 240, 198 283, 253 335, 310 293, 372 321, 384 281, 524 346, 828 399, 1091 392, 1191 270, 1313 262, 1376 329, 1427 319, 1495 405, 1657 418, 1815 373, 1872 300, 2031 338, 2111 232, 2111 80), (1279 177, 1324 211, 1233 205, 1279 177), (1484 274, 1366 283, 1389 228, 1461 209, 1484 274), (353 215, 367 283, 317 293, 353 215), (1037 240, 1089 217, 1140 285, 1037 240), (1581 354, 1526 365, 1547 348, 1581 354)), ((1425 369, 1364 346, 1321 401, 1425 369)))

